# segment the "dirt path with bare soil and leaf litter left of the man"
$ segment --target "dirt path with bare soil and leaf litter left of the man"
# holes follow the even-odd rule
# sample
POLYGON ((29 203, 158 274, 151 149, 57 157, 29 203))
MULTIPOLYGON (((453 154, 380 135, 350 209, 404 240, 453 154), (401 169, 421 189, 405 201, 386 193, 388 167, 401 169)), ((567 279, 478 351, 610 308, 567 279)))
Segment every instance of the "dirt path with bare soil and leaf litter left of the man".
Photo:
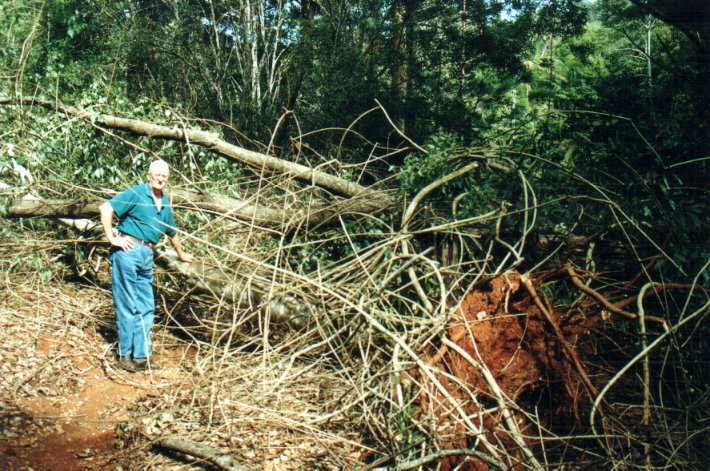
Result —
MULTIPOLYGON (((152 374, 117 370, 112 344, 53 309, 63 303, 15 294, 0 306, 0 471, 121 466, 121 425, 139 400, 179 381, 176 360, 184 355, 163 349, 152 374), (26 305, 28 298, 37 304, 26 305)), ((83 309, 107 308, 85 294, 75 298, 83 309)))

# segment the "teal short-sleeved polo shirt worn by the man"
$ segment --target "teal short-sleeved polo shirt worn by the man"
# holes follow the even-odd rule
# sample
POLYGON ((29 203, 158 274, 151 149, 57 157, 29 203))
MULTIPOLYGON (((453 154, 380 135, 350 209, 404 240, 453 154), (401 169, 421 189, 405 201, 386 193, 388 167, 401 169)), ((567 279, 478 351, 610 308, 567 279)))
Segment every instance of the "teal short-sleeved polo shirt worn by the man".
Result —
POLYGON ((163 193, 162 208, 153 201, 150 183, 141 183, 111 198, 108 203, 118 216, 118 230, 144 242, 157 244, 163 234, 174 236, 175 218, 168 198, 163 193))

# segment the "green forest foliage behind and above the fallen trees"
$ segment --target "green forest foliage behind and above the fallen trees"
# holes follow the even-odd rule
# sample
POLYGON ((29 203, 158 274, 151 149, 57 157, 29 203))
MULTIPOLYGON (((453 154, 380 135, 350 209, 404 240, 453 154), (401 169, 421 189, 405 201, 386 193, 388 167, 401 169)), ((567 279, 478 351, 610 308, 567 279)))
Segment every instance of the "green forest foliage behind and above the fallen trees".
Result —
MULTIPOLYGON (((597 234, 621 210, 635 229, 615 236, 671 240, 671 258, 688 273, 704 256, 692 234, 706 226, 708 71, 702 44, 670 15, 664 23, 622 0, 37 0, 1 8, 4 95, 56 93, 96 112, 170 125, 176 114, 216 119, 240 143, 270 139, 286 109, 307 131, 348 126, 377 98, 429 150, 390 161, 403 196, 487 157, 478 155, 485 147, 531 180, 541 232, 597 234)), ((194 148, 116 145, 51 114, 28 120, 0 110, 0 121, 13 131, 4 143, 16 161, 59 181, 117 188, 142 179, 158 154, 206 187, 242 192, 239 166, 194 148)), ((295 122, 284 120, 277 144, 295 122)), ((339 133, 320 133, 313 144, 343 163, 361 160, 372 143, 397 145, 380 113, 357 132, 362 138, 342 143, 339 133)), ((8 157, 0 155, 6 174, 8 157)), ((519 182, 482 165, 427 204, 463 218, 504 202, 515 212, 523 198, 519 182)))

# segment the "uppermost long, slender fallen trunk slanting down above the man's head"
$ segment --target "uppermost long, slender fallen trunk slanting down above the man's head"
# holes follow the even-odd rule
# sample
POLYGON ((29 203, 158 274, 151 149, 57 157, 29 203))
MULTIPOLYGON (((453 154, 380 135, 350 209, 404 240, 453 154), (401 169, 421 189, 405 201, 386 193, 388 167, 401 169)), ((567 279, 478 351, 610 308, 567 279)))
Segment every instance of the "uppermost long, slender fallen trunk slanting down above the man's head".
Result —
POLYGON ((394 200, 383 191, 372 190, 305 165, 244 149, 225 141, 211 132, 188 129, 186 127, 164 126, 138 119, 121 118, 108 114, 90 113, 71 106, 65 106, 58 101, 50 101, 41 98, 20 97, 15 99, 0 97, 0 105, 38 105, 48 110, 56 111, 57 113, 90 122, 94 126, 127 131, 151 138, 198 145, 230 160, 241 162, 260 171, 265 170, 267 172, 293 177, 301 182, 324 188, 337 195, 349 198, 358 196, 359 198, 354 201, 350 207, 350 210, 353 212, 379 212, 394 204, 394 200))

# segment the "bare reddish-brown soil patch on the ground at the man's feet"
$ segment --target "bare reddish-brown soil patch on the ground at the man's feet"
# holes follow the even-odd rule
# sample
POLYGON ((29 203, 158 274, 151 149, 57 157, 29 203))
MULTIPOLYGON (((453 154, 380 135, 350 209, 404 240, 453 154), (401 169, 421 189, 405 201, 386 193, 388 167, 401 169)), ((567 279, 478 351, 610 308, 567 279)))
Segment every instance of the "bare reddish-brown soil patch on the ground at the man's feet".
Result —
MULTIPOLYGON (((84 330, 83 341, 98 342, 84 330)), ((68 358, 79 376, 78 387, 50 386, 51 395, 35 395, 12 401, 17 433, 0 438, 0 471, 74 471, 121 467, 115 448, 116 427, 127 423, 139 400, 156 394, 155 381, 177 380, 174 358, 183 351, 163 350, 157 375, 130 374, 115 369, 113 356, 97 358, 89 351, 72 349, 66 340, 40 334, 34 345, 42 358, 68 358)), ((124 468, 125 469, 125 468, 124 468)))

